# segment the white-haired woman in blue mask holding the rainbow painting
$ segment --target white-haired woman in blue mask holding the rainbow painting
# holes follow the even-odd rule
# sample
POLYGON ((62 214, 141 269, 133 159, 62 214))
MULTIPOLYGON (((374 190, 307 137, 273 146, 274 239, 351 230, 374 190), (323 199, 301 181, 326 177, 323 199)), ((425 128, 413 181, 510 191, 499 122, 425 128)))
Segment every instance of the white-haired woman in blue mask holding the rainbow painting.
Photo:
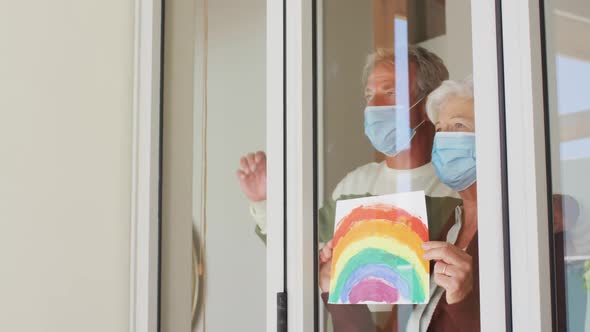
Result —
MULTIPOLYGON (((429 95, 426 105, 436 127, 432 163, 440 180, 459 193, 463 205, 443 228, 441 241, 424 243, 424 258, 434 265, 431 297, 427 304, 414 307, 407 331, 479 331, 473 85, 470 81, 444 81, 429 95)), ((320 252, 324 267, 329 267, 331 251, 328 243, 320 252)), ((321 268, 320 279, 329 278, 329 273, 329 268, 321 268)), ((381 329, 373 324, 366 306, 328 305, 328 310, 335 332, 397 331, 395 312, 381 329)))

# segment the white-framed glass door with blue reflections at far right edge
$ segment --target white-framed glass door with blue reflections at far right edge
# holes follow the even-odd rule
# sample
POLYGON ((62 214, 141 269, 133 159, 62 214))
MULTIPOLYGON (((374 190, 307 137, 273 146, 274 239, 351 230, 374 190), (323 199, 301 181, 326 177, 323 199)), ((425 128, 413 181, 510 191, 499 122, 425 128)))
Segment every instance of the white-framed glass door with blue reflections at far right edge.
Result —
POLYGON ((589 331, 590 5, 502 5, 513 327, 589 331))

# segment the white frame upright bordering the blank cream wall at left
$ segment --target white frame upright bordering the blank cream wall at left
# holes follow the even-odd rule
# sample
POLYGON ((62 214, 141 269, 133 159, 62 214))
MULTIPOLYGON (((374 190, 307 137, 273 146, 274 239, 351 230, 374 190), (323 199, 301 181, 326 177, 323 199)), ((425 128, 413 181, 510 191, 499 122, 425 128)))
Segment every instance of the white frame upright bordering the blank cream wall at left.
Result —
POLYGON ((130 332, 158 328, 161 16, 161 1, 135 1, 130 332))

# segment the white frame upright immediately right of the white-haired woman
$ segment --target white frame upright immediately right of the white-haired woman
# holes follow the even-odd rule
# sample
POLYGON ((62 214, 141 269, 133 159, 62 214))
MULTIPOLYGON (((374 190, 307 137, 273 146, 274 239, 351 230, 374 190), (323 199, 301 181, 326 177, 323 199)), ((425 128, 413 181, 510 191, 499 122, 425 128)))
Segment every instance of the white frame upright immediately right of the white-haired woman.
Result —
POLYGON ((482 331, 506 331, 496 1, 471 1, 482 331), (482 204, 485 202, 485 204, 482 204))

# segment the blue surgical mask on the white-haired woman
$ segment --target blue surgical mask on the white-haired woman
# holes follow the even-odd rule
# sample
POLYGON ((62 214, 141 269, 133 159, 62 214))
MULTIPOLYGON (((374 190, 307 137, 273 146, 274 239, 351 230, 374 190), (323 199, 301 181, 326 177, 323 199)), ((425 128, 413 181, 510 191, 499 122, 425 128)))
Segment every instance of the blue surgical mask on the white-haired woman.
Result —
POLYGON ((475 134, 438 132, 434 136, 432 164, 442 183, 463 191, 475 183, 475 134))

